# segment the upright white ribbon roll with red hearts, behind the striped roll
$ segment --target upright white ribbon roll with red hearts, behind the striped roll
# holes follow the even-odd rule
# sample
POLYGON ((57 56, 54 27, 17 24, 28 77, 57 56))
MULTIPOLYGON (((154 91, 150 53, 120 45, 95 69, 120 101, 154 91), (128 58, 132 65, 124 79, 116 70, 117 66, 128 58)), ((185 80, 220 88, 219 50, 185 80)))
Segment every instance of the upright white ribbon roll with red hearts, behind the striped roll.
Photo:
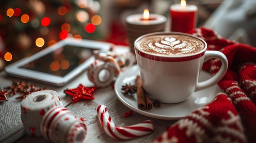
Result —
POLYGON ((44 114, 55 106, 63 106, 57 92, 40 90, 28 95, 21 102, 21 120, 25 132, 30 136, 42 136, 40 122, 44 114))

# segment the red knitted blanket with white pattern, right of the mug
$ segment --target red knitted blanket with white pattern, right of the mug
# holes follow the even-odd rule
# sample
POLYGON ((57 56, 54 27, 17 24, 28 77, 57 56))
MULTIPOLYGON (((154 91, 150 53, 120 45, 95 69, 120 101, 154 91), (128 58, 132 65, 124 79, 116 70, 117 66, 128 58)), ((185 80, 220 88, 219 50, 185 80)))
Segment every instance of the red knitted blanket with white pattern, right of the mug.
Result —
MULTIPOLYGON (((207 50, 218 50, 227 56, 229 69, 218 83, 223 92, 177 121, 153 142, 256 143, 256 48, 227 40, 203 27, 189 33, 204 39, 207 50)), ((220 66, 218 59, 211 59, 203 69, 214 75, 220 66)))

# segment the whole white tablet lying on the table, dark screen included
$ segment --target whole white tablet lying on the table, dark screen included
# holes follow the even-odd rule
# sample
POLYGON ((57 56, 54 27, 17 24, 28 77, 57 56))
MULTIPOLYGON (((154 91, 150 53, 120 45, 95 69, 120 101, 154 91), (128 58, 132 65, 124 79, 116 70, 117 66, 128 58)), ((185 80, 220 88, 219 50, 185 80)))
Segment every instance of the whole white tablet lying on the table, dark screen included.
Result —
POLYGON ((67 38, 5 67, 8 75, 63 86, 94 62, 93 50, 110 50, 112 44, 67 38))

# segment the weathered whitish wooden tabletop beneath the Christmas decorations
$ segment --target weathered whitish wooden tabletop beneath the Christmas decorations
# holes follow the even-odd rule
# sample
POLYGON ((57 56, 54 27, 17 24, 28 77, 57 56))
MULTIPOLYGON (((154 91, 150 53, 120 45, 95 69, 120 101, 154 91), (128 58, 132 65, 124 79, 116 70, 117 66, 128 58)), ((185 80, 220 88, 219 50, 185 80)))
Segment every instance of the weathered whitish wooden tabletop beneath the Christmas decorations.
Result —
MULTIPOLYGON (((0 88, 10 86, 14 80, 22 81, 24 79, 10 77, 6 73, 4 73, 4 71, 0 72, 0 88)), ((94 100, 72 103, 72 97, 64 93, 65 89, 76 88, 77 86, 79 86, 79 84, 83 84, 83 86, 94 86, 92 82, 88 80, 86 72, 63 87, 49 86, 36 81, 27 82, 30 84, 34 84, 37 88, 45 87, 46 89, 56 91, 61 98, 63 105, 68 110, 72 111, 76 117, 84 119, 84 123, 87 125, 87 134, 84 141, 86 143, 148 143, 161 135, 166 130, 166 127, 168 125, 172 125, 176 122, 173 120, 168 121, 146 117, 137 112, 133 112, 134 114, 128 118, 124 117, 124 113, 130 111, 130 109, 127 108, 123 103, 121 103, 121 101, 119 101, 114 89, 111 86, 107 88, 97 89, 93 94, 94 100), (155 131, 148 135, 130 140, 112 139, 104 132, 103 128, 100 125, 99 119, 97 117, 97 112, 95 111, 95 108, 98 105, 105 105, 108 108, 110 117, 117 126, 126 127, 150 119, 153 122, 155 131)), ((12 97, 8 96, 9 100, 7 102, 0 103, 0 142, 49 143, 50 141, 44 139, 43 137, 28 136, 25 133, 20 119, 21 101, 15 99, 19 96, 20 95, 13 95, 12 97)))

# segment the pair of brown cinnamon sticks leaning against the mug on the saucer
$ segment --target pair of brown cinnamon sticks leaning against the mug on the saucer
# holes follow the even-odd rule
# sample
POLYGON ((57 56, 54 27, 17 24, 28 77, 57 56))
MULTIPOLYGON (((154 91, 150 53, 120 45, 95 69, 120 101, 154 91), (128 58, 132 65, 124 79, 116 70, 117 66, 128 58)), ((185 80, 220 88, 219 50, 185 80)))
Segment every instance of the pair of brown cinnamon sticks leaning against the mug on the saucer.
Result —
POLYGON ((150 110, 153 107, 153 104, 152 104, 150 98, 148 97, 148 95, 146 95, 145 92, 144 92, 140 76, 137 76, 136 84, 137 84, 137 105, 138 105, 138 108, 140 110, 150 110))

